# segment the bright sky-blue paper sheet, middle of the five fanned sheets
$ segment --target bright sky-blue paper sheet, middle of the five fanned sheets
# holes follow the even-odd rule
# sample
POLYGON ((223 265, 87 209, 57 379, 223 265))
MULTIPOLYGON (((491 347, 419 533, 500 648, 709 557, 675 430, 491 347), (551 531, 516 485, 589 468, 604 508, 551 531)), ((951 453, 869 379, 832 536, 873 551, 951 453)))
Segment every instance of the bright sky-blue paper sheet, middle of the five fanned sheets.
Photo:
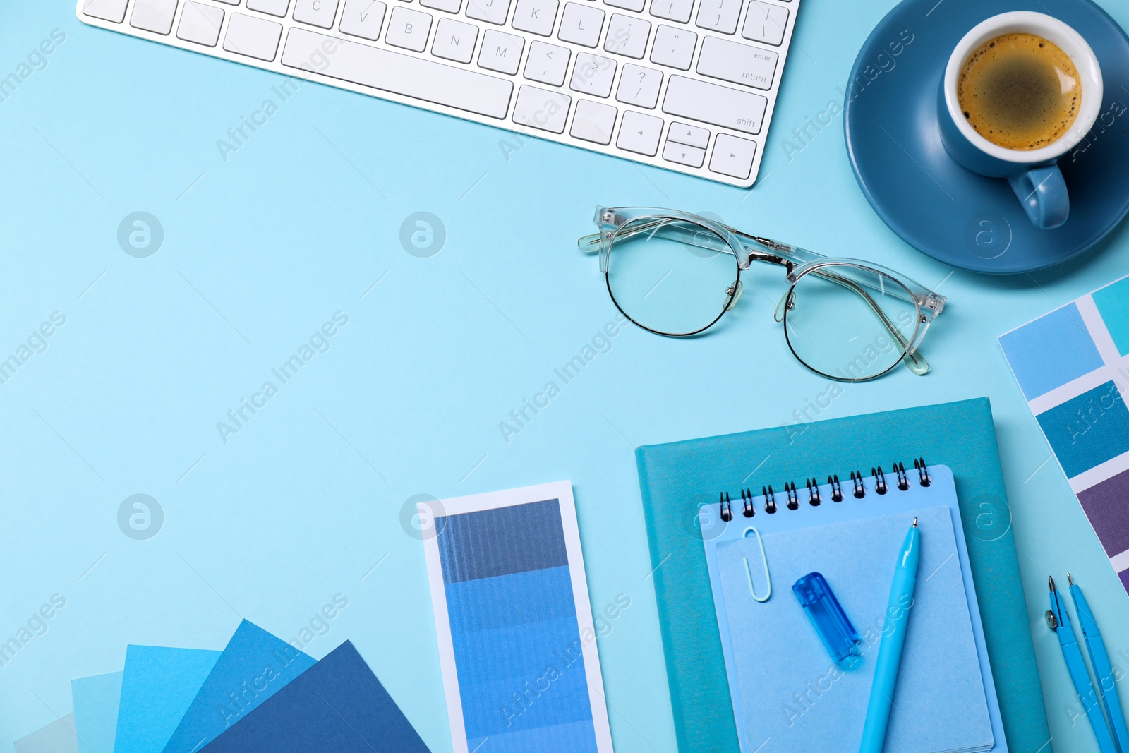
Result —
POLYGON ((219 651, 129 646, 114 753, 160 753, 219 651))

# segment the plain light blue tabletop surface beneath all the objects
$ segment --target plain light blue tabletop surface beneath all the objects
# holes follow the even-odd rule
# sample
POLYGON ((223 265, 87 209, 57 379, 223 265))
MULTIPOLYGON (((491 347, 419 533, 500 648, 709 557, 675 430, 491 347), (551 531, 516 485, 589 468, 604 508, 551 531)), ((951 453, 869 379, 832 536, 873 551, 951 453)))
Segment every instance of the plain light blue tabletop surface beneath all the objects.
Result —
MULTIPOLYGON (((1103 5, 1129 24, 1124 6, 1103 5)), ((784 139, 841 100, 889 1, 805 0, 752 192, 537 140, 507 160, 504 131, 312 84, 225 163, 217 139, 280 79, 86 27, 73 6, 0 10, 0 76, 52 29, 67 34, 0 103, 0 352, 67 316, 0 385, 0 636, 67 598, 0 668, 0 743, 65 715, 70 680, 121 669, 126 643, 218 649, 240 618, 289 639, 340 593, 348 607, 303 650, 352 639, 428 745, 448 751, 423 554, 401 508, 417 493, 571 479, 593 607, 631 598, 599 639, 616 750, 672 751, 632 449, 790 423, 826 383, 788 354, 771 318, 779 273, 756 270, 746 286, 765 295, 749 288, 715 333, 623 330, 507 444, 499 422, 614 316, 596 260, 575 246, 605 203, 712 211, 940 286, 949 305, 924 351, 934 371, 849 386, 820 417, 991 397, 1053 748, 1095 750, 1043 622, 1047 575, 1083 585, 1123 669, 1129 598, 996 338, 1122 275, 1129 230, 1034 275, 953 272, 869 209, 838 119, 789 159, 784 139), (165 228, 149 259, 116 242, 139 210, 165 228), (400 245, 415 211, 446 225, 431 259, 400 245), (331 350, 224 444, 216 422, 338 310, 349 324, 331 350), (149 541, 119 528, 133 493, 164 508, 149 541)))

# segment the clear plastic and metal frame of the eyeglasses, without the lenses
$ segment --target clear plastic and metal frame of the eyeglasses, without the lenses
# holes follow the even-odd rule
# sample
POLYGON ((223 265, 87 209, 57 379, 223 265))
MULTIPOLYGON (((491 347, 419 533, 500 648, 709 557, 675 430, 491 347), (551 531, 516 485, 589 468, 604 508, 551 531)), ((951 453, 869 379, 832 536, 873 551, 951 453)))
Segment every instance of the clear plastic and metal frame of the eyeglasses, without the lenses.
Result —
POLYGON ((929 330, 929 325, 933 324, 933 321, 944 309, 946 297, 926 288, 921 283, 900 272, 895 272, 879 264, 872 264, 870 262, 858 259, 850 259, 847 256, 824 256, 815 253, 814 251, 772 240, 771 238, 750 235, 742 230, 737 230, 736 228, 729 227, 724 222, 711 220, 707 217, 701 217, 700 214, 682 212, 674 209, 658 209, 653 207, 596 207, 596 213, 593 220, 596 222, 599 231, 580 237, 577 240, 577 245, 580 251, 586 254, 599 253, 599 271, 604 275, 604 282, 607 286, 607 295, 611 296, 615 308, 618 308, 619 312, 623 314, 623 316, 625 316, 632 324, 642 327, 648 332, 654 332, 655 334, 660 334, 667 338, 689 338, 704 332, 717 324, 721 317, 725 316, 725 313, 736 305, 737 298, 741 297, 741 291, 743 290, 741 273, 743 271, 747 271, 754 261, 768 262, 784 266, 785 279, 789 283, 788 289, 777 304, 772 318, 785 324, 785 341, 788 343, 788 350, 791 351, 791 354, 805 368, 821 376, 844 382, 868 382, 870 379, 876 379, 877 377, 887 374, 900 362, 904 362, 911 371, 919 376, 929 370, 929 364, 918 352, 918 349, 920 348, 921 341, 925 339, 926 332, 929 330), (721 306, 721 310, 711 322, 698 330, 694 330, 693 332, 662 332, 637 322, 629 313, 623 310, 620 301, 615 299, 615 294, 612 291, 611 275, 609 274, 612 244, 620 236, 620 233, 624 227, 632 222, 647 219, 654 219, 657 221, 654 225, 641 225, 637 228, 632 228, 631 235, 644 233, 653 227, 654 230, 657 231, 659 227, 663 227, 668 221, 690 222, 701 226, 702 228, 712 231, 715 235, 703 236, 700 233, 695 233, 689 238, 684 238, 685 242, 701 248, 709 248, 721 253, 733 254, 736 260, 737 275, 734 279, 733 284, 729 286, 727 290, 728 297, 725 300, 725 305, 721 306), (702 243, 702 240, 712 239, 714 237, 720 238, 725 243, 725 246, 717 247, 716 243, 702 243), (847 272, 844 274, 832 274, 825 269, 829 266, 835 266, 837 271, 839 271, 838 268, 846 268, 847 272), (905 338, 901 331, 892 322, 890 322, 882 308, 865 290, 863 290, 863 288, 870 288, 872 290, 881 289, 883 295, 891 294, 892 291, 885 289, 884 287, 878 288, 874 286, 873 282, 861 275, 858 275, 857 279, 851 279, 852 275, 849 272, 850 269, 864 270, 866 272, 886 277, 899 283, 902 290, 899 291, 895 288, 893 291, 894 297, 905 303, 913 304, 917 309, 914 330, 909 338, 905 338), (820 270, 823 271, 820 272, 820 270), (819 273, 820 277, 847 287, 863 297, 863 299, 869 304, 870 308, 874 309, 879 319, 882 319, 883 325, 887 331, 890 331, 894 340, 898 341, 898 344, 902 347, 901 358, 885 369, 858 379, 844 379, 833 374, 826 374, 805 361, 799 353, 796 352, 796 349, 791 344, 791 339, 788 336, 787 317, 788 310, 791 309, 791 303, 795 299, 794 291, 796 289, 796 284, 805 275, 812 273, 819 273), (904 295, 898 295, 902 292, 904 295))

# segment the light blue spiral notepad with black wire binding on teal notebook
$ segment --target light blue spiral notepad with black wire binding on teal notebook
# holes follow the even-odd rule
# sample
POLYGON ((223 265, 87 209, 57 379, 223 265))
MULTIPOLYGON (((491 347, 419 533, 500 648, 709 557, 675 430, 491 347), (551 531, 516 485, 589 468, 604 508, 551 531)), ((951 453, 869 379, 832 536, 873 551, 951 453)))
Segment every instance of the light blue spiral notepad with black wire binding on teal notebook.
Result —
POLYGON ((699 511, 742 751, 839 750, 861 734, 894 559, 914 517, 922 561, 887 750, 1006 751, 952 472, 918 462, 825 478, 721 492, 699 511), (851 669, 833 663, 791 593, 811 571, 863 637, 851 669))

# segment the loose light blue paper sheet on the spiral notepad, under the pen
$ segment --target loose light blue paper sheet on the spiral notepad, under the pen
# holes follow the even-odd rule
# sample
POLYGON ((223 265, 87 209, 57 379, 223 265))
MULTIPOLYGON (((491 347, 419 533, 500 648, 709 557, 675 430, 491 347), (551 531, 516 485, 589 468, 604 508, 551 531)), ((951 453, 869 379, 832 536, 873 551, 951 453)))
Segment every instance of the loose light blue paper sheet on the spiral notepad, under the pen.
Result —
MULTIPOLYGON (((899 544, 920 518, 921 564, 886 751, 990 750, 991 719, 947 507, 765 534, 772 597, 754 602, 755 539, 718 544, 718 569, 747 750, 854 750, 863 734, 899 544), (861 662, 837 667, 789 586, 819 571, 863 636, 861 662)), ((730 680, 732 684, 732 680, 730 680)))

